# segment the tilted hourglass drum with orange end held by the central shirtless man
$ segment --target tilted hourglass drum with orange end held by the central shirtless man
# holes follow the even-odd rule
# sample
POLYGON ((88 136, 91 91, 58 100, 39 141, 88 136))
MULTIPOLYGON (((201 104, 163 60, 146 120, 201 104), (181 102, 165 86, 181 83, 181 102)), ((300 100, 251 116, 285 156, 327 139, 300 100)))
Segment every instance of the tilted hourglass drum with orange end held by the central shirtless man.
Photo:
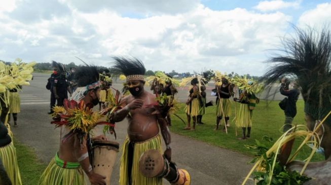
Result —
POLYGON ((190 185, 191 177, 185 169, 178 169, 158 150, 148 150, 139 159, 139 171, 145 177, 162 177, 173 185, 190 185))

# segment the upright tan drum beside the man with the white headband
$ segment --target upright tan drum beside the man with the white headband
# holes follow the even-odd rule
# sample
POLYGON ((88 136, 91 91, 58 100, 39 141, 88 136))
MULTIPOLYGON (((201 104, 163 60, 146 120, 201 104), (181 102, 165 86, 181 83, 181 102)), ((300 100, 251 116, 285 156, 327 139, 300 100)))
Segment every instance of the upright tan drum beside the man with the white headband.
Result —
POLYGON ((111 184, 111 176, 119 152, 119 143, 114 141, 93 141, 91 164, 93 172, 106 177, 106 185, 111 184))

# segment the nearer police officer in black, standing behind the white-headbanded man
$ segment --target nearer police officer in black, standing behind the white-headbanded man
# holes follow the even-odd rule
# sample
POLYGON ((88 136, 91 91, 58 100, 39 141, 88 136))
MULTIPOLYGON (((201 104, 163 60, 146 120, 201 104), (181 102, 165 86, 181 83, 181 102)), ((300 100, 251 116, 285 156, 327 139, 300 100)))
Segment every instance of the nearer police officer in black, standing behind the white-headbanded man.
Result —
POLYGON ((58 63, 60 69, 60 75, 55 77, 53 83, 53 93, 57 100, 57 106, 63 106, 63 100, 68 98, 68 93, 71 95, 70 85, 67 80, 65 67, 63 64, 58 63))

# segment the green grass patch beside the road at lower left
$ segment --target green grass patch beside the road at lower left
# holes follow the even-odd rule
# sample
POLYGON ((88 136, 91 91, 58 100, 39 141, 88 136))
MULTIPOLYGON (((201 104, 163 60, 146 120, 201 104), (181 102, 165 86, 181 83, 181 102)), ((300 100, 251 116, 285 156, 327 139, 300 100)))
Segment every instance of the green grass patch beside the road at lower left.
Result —
POLYGON ((14 138, 18 167, 24 185, 38 184, 39 178, 47 167, 36 157, 34 151, 14 138))

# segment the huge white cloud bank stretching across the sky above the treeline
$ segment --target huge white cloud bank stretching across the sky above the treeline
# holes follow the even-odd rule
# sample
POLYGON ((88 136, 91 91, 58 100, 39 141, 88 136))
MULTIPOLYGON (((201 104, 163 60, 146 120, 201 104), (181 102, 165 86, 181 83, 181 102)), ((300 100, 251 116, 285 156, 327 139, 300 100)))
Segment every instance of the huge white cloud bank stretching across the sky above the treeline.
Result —
MULTIPOLYGON (((25 61, 79 63, 77 56, 109 66, 111 56, 123 55, 140 58, 152 70, 193 72, 212 68, 261 75, 264 51, 274 48, 272 44, 279 42, 278 36, 291 20, 280 12, 256 13, 240 8, 214 11, 203 5, 178 13, 162 9, 164 13, 158 15, 129 18, 107 6, 96 5, 95 10, 87 12, 72 2, 54 4, 70 7, 63 14, 60 10, 49 14, 37 11, 42 16, 35 15, 29 22, 12 14, 0 17, 0 27, 6 28, 0 33, 6 46, 1 51, 3 60, 20 57, 25 61)), ((136 1, 132 2, 129 6, 135 5, 136 1)), ((160 3, 144 6, 144 11, 155 13, 160 3)))

